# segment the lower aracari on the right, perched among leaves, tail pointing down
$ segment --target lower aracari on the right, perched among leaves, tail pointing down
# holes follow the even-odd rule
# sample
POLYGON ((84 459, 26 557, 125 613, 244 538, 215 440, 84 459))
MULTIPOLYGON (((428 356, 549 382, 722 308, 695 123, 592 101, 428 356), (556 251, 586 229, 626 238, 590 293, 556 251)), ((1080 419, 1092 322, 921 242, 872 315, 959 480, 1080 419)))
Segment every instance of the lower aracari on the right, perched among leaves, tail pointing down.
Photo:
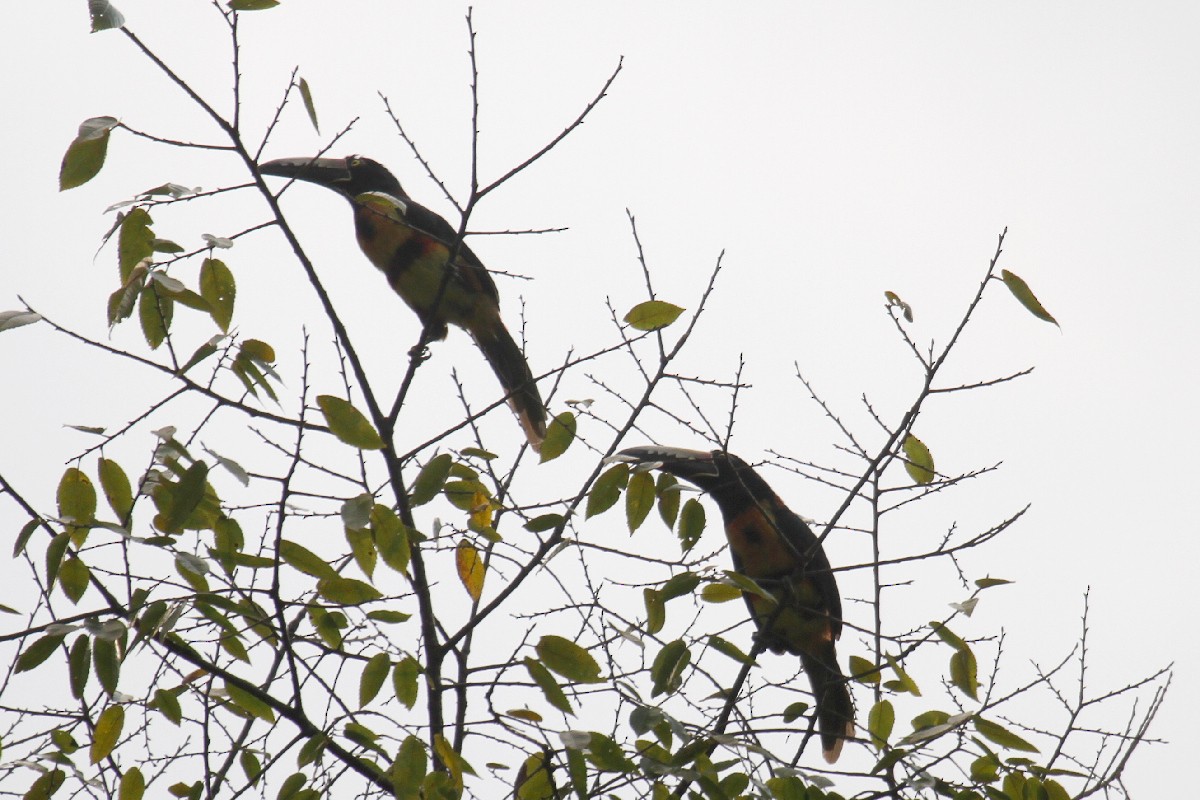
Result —
POLYGON ((716 501, 733 569, 779 601, 743 593, 758 636, 772 652, 800 657, 812 684, 822 754, 830 764, 838 760, 854 733, 854 705, 834 648, 841 636, 841 597, 816 535, 731 453, 647 446, 622 450, 618 458, 682 477, 716 501))

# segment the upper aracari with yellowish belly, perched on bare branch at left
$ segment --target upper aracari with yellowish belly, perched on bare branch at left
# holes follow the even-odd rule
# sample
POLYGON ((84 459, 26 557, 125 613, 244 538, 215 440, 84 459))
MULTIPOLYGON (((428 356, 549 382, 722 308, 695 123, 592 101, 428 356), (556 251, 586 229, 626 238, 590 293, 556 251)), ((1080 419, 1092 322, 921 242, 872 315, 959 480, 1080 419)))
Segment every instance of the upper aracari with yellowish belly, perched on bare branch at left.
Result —
POLYGON ((458 245, 442 289, 458 239, 450 223, 414 203, 383 164, 362 156, 278 158, 258 170, 317 184, 349 200, 364 254, 388 276, 396 294, 430 327, 432 338, 444 339, 451 323, 470 333, 499 378, 529 444, 534 450, 541 447, 546 407, 524 354, 500 319, 496 282, 466 243, 458 245))

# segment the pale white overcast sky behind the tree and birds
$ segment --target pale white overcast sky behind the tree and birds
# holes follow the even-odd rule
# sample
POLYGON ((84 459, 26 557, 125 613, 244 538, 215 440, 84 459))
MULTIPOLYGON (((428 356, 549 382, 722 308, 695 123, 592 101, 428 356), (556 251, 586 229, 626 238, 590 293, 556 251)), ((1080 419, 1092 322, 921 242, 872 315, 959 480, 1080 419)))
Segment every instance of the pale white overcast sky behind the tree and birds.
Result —
MULTIPOLYGON (((229 53, 208 4, 119 7, 198 90, 224 97, 229 53)), ((299 66, 322 134, 294 103, 264 157, 313 154, 359 118, 334 152, 388 163, 410 194, 451 216, 378 95, 450 191, 464 196, 464 14, 454 2, 359 0, 288 0, 245 14, 244 125, 262 130, 299 66)), ((836 431, 796 379, 797 367, 857 429, 871 432, 864 395, 895 419, 919 374, 883 309, 883 291, 914 307, 910 330, 918 342, 943 343, 1008 228, 1001 266, 1028 281, 1061 330, 990 291, 947 380, 1036 371, 926 408, 917 433, 940 468, 1003 462, 985 486, 931 513, 940 525, 986 524, 1032 504, 1019 529, 972 564, 972 577, 1016 581, 994 590, 980 624, 1002 625, 1021 663, 1033 657, 1024 654, 1064 654, 1091 588, 1097 690, 1176 664, 1152 730, 1171 746, 1140 752, 1129 787, 1151 796, 1194 783, 1180 753, 1200 745, 1190 722, 1200 708, 1192 636, 1200 563, 1192 510, 1200 445, 1200 8, 497 2, 476 8, 474 23, 484 182, 572 120, 624 58, 586 125, 486 198, 472 219, 476 230, 568 228, 472 241, 493 269, 532 278, 499 284, 508 319, 518 319, 523 297, 535 372, 569 347, 587 351, 611 339, 605 297, 622 313, 643 299, 628 210, 665 300, 694 307, 725 253, 680 372, 730 379, 745 356, 752 390, 742 398, 733 443, 750 458, 768 450, 838 457, 836 431)), ((115 285, 114 255, 96 255, 112 224, 103 210, 168 180, 215 187, 244 174, 228 156, 118 132, 101 176, 58 193, 61 155, 90 116, 218 140, 124 36, 88 34, 83 0, 25 4, 19 25, 7 29, 0 68, 12 187, 0 199, 0 309, 19 307, 19 295, 103 338, 103 299, 115 285)), ((396 357, 390 331, 402 330, 407 349, 415 325, 354 248, 342 206, 311 190, 289 192, 283 207, 299 230, 332 230, 305 243, 330 276, 335 302, 361 309, 352 327, 361 331, 365 357, 386 365, 396 357), (337 224, 320 228, 332 215, 337 224), (343 271, 353 277, 338 279, 343 271)), ((204 213, 210 233, 226 234, 264 210, 229 196, 204 213)), ((190 230, 179 235, 194 236, 190 230)), ((272 236, 229 252, 240 270, 239 315, 311 318, 311 301, 288 290, 295 276, 271 260, 272 252, 283 257, 272 236)), ((299 324, 287 330, 298 336, 299 324)), ((136 344, 136 331, 118 331, 114 343, 136 344)), ((445 362, 478 361, 461 335, 436 347, 445 362)), ((88 444, 61 426, 127 419, 125 373, 37 326, 0 335, 0 365, 8 377, 0 470, 49 509, 64 462, 88 444)), ((562 397, 596 393, 580 379, 562 397)), ((452 416, 456 409, 444 405, 452 416)), ((724 404, 712 410, 724 420, 724 404)), ((834 507, 796 476, 770 480, 806 516, 834 507)), ((16 534, 22 522, 5 517, 4 528, 16 534)), ((829 545, 834 563, 851 557, 852 548, 839 554, 838 547, 829 545)))

